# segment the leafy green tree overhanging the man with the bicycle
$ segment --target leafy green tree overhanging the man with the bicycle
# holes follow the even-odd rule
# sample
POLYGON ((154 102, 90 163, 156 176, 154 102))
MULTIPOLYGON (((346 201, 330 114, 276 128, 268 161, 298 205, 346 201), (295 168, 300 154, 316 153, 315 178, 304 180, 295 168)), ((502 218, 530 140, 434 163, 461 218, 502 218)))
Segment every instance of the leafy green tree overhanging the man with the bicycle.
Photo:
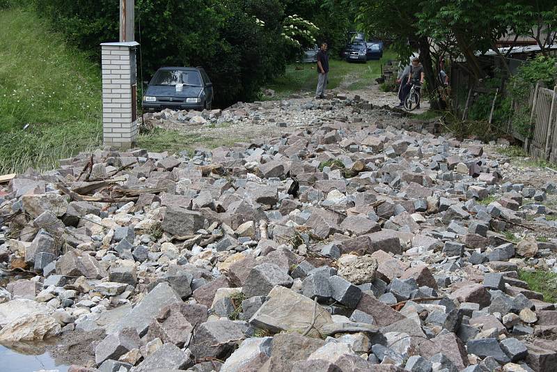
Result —
POLYGON ((489 49, 499 52, 503 36, 530 36, 542 52, 556 39, 557 6, 554 0, 354 0, 356 22, 366 30, 395 36, 393 47, 402 60, 417 47, 430 92, 437 88, 433 65, 448 54, 465 59, 471 75, 487 72, 478 57, 489 49), (547 34, 547 37, 544 37, 547 34), (434 57, 435 63, 431 59, 434 57))

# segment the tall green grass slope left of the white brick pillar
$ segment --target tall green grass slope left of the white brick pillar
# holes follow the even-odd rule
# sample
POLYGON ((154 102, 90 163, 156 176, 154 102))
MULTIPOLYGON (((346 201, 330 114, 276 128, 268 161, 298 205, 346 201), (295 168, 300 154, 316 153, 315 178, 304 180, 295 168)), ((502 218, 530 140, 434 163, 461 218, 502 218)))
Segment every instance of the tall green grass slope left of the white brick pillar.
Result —
POLYGON ((17 8, 0 12, 0 61, 0 174, 52 169, 100 146, 97 64, 40 16, 17 8))

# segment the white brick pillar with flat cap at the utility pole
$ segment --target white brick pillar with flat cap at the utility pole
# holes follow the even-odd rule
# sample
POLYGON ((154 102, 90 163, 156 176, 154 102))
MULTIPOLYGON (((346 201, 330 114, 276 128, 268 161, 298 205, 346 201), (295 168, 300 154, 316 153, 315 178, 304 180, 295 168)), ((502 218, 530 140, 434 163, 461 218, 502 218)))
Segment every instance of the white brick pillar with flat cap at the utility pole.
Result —
POLYGON ((137 137, 137 42, 104 42, 102 47, 102 138, 104 145, 130 149, 137 137))

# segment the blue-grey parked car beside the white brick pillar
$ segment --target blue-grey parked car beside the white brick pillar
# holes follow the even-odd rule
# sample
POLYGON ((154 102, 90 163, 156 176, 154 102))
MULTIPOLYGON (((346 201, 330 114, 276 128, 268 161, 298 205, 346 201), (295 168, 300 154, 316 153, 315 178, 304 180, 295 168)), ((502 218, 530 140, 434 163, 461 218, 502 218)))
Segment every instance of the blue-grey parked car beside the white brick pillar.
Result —
POLYGON ((213 84, 201 67, 162 67, 143 95, 147 111, 211 109, 213 84))

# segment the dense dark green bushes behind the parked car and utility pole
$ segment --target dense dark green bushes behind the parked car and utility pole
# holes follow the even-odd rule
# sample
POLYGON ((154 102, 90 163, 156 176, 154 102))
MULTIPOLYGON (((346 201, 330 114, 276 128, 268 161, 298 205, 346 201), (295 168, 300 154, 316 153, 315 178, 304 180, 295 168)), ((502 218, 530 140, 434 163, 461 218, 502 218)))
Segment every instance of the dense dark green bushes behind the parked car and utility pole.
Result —
MULTIPOLYGON (((117 1, 33 1, 54 29, 97 60, 101 42, 118 40, 117 1)), ((278 0, 136 0, 143 79, 164 65, 201 65, 214 84, 215 104, 252 100, 284 71, 283 18, 278 0)))

